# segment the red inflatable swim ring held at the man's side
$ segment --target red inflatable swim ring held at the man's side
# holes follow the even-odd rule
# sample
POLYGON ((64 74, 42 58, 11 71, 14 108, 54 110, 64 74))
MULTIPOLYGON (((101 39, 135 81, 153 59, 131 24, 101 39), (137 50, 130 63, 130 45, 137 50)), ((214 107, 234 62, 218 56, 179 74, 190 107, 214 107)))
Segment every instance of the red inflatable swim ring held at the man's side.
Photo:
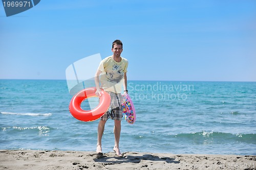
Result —
POLYGON ((101 89, 99 104, 92 110, 81 109, 81 103, 91 97, 97 97, 96 87, 89 87, 76 93, 70 101, 69 111, 78 120, 89 122, 100 118, 110 107, 110 94, 101 89))

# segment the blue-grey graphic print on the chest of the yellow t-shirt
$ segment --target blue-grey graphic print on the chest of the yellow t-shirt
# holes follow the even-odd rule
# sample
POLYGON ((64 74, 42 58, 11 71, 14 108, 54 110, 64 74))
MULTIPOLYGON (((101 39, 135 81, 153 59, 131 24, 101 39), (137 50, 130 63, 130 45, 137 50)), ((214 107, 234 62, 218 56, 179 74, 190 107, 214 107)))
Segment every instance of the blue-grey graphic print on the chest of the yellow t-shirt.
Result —
POLYGON ((106 71, 106 78, 109 82, 119 83, 123 79, 122 67, 114 64, 111 70, 106 71))

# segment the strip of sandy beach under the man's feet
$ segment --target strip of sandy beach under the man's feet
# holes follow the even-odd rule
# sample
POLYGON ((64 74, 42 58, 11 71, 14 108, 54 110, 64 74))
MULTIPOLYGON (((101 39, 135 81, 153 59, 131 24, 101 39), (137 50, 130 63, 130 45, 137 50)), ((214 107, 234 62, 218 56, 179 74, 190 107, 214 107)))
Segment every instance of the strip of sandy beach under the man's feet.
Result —
POLYGON ((256 169, 256 156, 0 150, 0 169, 256 169))

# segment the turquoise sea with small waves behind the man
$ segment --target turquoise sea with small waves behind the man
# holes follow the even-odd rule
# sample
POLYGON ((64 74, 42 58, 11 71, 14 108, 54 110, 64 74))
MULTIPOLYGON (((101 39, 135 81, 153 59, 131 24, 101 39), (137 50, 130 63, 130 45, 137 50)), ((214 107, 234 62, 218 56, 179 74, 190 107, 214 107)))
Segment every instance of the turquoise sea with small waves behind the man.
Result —
MULTIPOLYGON (((127 89, 137 118, 122 118, 121 152, 256 155, 256 82, 128 81, 127 89)), ((0 80, 0 149, 96 151, 99 119, 74 118, 72 97, 66 80, 0 80)), ((104 153, 113 152, 113 127, 108 120, 104 153)))

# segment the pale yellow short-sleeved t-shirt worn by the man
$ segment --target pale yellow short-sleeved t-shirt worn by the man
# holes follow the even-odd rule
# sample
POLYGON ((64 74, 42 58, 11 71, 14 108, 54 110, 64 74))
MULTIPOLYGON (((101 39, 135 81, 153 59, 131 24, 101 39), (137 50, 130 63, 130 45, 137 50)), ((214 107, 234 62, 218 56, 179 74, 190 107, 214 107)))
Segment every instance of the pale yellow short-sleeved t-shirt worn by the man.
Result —
POLYGON ((102 71, 100 76, 101 88, 105 91, 112 91, 115 93, 121 93, 123 75, 127 72, 128 60, 121 57, 120 62, 116 62, 113 56, 103 59, 98 69, 102 71))

